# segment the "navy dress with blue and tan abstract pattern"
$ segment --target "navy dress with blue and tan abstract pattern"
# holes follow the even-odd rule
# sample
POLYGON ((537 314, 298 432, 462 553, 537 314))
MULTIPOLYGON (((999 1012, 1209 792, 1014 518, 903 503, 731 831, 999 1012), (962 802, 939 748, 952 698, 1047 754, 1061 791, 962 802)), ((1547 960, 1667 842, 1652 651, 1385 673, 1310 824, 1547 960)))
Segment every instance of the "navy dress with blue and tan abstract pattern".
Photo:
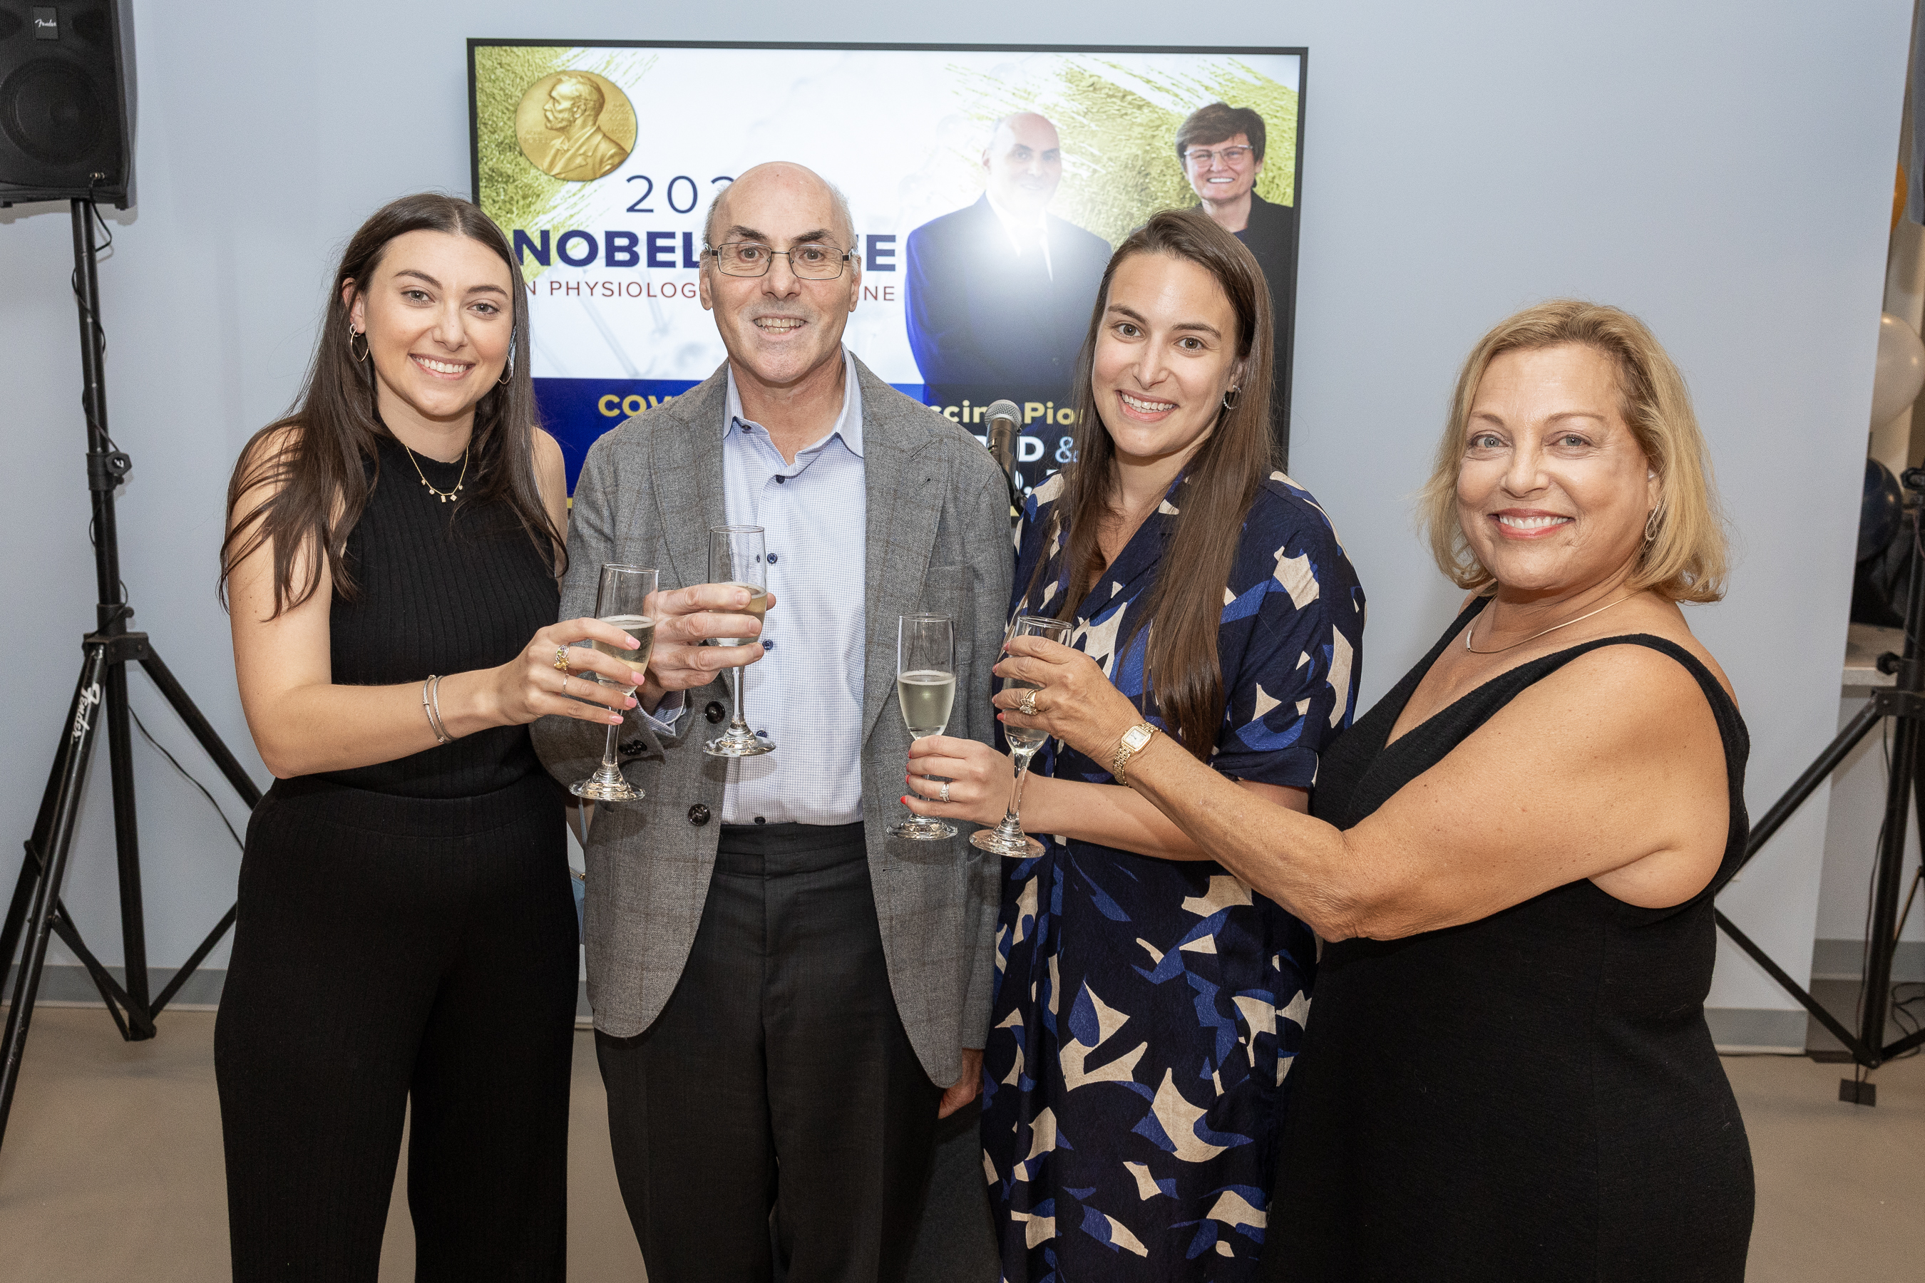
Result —
MULTIPOLYGON (((1061 533, 1028 591, 1059 491, 1051 477, 1026 506, 1022 612, 1055 614, 1065 591, 1061 533)), ((1126 656, 1115 648, 1147 604, 1180 504, 1182 481, 1076 608, 1070 644, 1138 708, 1147 633, 1126 656)), ((1322 510, 1282 473, 1244 521, 1217 639, 1226 714, 1211 764, 1307 789, 1349 725, 1363 591, 1322 510)), ((1107 764, 1055 741, 1032 769, 1111 783, 1107 764)), ((1003 1277, 1251 1279, 1315 939, 1219 864, 1038 837, 1041 856, 1003 862, 984 1050, 1003 1277)))

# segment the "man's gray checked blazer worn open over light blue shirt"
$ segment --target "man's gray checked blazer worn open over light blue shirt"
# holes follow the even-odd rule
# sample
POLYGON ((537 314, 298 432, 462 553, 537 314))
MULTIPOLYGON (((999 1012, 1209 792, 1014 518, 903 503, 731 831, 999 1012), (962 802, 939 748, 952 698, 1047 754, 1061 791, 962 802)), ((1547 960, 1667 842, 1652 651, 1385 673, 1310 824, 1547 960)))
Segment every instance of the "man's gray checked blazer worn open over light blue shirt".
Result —
MULTIPOLYGON (((982 1046, 995 983, 999 858, 968 844, 891 839, 901 819, 909 731, 895 714, 895 619, 937 612, 957 621, 957 704, 949 735, 991 742, 989 667, 1003 644, 1014 556, 1009 487, 966 431, 855 364, 862 381, 866 637, 862 667, 862 818, 876 918, 895 1010, 930 1079, 961 1073, 982 1046)), ((562 617, 595 612, 603 562, 654 566, 662 589, 708 579, 708 527, 724 523, 726 367, 701 387, 628 419, 589 448, 576 485, 562 617)), ((780 610, 780 604, 778 604, 780 610)), ((726 762, 703 752, 730 710, 726 681, 689 691, 676 737, 639 716, 622 729, 624 773, 649 796, 599 806, 587 846, 589 1004, 595 1027, 641 1033, 662 1012, 695 943, 722 829, 726 762)), ((543 717, 535 748, 556 779, 601 760, 604 733, 543 717)), ((782 744, 782 752, 808 752, 782 744)))

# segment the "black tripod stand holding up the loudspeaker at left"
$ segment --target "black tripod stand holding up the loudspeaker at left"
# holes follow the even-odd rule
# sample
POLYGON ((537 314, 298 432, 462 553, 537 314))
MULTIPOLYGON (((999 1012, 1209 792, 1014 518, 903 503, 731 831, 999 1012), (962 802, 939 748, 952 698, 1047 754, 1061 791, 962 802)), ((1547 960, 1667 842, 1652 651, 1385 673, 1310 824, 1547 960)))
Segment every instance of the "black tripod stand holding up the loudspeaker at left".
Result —
POLYGON ((54 767, 40 796, 40 814, 27 839, 19 883, 0 925, 0 973, 21 950, 13 975, 13 1004, 8 1010, 4 1062, 0 1062, 0 1143, 6 1139, 8 1116, 13 1110, 13 1089, 19 1083, 21 1056, 27 1050, 27 1029, 33 1021, 35 994, 46 966, 50 937, 73 950, 87 966, 100 1000, 106 1002, 121 1037, 129 1043, 154 1037, 154 1018, 181 991, 194 968, 212 952, 235 921, 229 908, 214 931, 175 971, 173 979, 150 996, 146 968, 146 923, 141 906, 141 831, 135 816, 133 741, 127 706, 127 666, 139 664, 160 689, 173 712, 233 785, 241 800, 252 808, 260 791, 235 760, 194 700, 175 681, 154 650, 146 633, 131 631, 133 606, 119 577, 119 531, 114 519, 114 492, 125 481, 133 462, 108 437, 106 387, 102 358, 106 337, 100 329, 100 285, 96 275, 98 246, 94 242, 94 206, 73 202, 73 298, 81 314, 81 404, 87 412, 87 489, 92 498, 94 577, 98 606, 94 631, 81 639, 81 679, 73 689, 67 719, 62 723, 54 767), (125 954, 125 983, 100 964, 60 898, 60 885, 73 848, 73 831, 81 818, 87 792, 87 773, 92 764, 100 727, 106 723, 108 767, 114 777, 114 848, 119 866, 121 946, 125 954), (25 946, 21 946, 25 937, 25 946))

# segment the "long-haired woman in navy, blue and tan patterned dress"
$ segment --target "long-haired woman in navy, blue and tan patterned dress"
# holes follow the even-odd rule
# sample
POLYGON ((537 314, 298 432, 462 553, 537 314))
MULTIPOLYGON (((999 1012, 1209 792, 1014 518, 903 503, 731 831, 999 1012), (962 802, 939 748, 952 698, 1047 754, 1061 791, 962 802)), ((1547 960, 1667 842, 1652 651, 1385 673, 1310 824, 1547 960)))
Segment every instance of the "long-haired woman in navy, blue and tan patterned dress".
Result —
MULTIPOLYGON (((1363 591, 1270 465, 1255 260, 1194 212, 1149 219, 1103 277, 1080 385, 1078 462, 1026 504, 1014 612, 1072 619, 1149 725, 1305 810, 1349 725, 1363 591)), ((918 814, 1003 814, 991 748, 922 739, 909 769, 918 814)), ((1049 744, 1032 771, 1045 848, 1003 864, 984 1050, 1003 1277, 1249 1279, 1317 943, 1111 764, 1049 744)))

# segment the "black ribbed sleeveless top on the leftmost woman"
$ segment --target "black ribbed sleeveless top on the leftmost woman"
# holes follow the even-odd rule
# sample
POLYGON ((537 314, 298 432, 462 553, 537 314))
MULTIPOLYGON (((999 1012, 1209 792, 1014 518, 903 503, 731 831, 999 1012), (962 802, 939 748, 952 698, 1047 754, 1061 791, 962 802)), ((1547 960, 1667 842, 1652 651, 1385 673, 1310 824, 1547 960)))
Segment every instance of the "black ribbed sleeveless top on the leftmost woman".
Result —
MULTIPOLYGON (((393 437, 368 462, 368 508, 346 542, 356 592, 333 598, 333 679, 385 687, 429 673, 506 664, 535 629, 554 623, 560 585, 547 554, 506 504, 477 504, 470 471, 462 502, 443 504, 422 487, 452 491, 462 465, 408 452, 393 437)), ((422 714, 425 719, 427 714, 422 714)), ((541 773, 526 725, 489 727, 452 744, 314 779, 414 798, 466 798, 541 773)))

